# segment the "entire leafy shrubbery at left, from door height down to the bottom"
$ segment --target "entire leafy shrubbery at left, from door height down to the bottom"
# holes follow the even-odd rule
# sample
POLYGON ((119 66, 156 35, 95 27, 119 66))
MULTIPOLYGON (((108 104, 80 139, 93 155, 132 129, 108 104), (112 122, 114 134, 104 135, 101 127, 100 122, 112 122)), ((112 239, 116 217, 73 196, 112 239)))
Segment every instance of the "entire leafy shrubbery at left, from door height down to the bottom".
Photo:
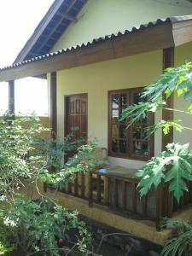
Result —
POLYGON ((90 234, 79 221, 78 212, 69 212, 57 205, 51 207, 44 195, 38 204, 15 197, 23 181, 29 184, 46 181, 58 188, 73 181, 77 172, 88 172, 99 165, 94 153, 96 143, 81 146, 78 154, 63 163, 67 152, 76 151, 83 142, 83 138, 73 140, 75 129, 63 141, 39 139, 42 131, 47 129, 39 125, 35 117, 13 119, 6 115, 0 120, 0 199, 8 203, 2 207, 1 220, 3 228, 14 231, 11 238, 5 236, 8 242, 1 239, 0 234, 2 253, 12 248, 9 241, 25 255, 59 255, 61 241, 75 242, 81 252, 90 244, 90 234), (49 172, 51 166, 53 172, 49 172), (77 236, 72 236, 73 233, 77 236))

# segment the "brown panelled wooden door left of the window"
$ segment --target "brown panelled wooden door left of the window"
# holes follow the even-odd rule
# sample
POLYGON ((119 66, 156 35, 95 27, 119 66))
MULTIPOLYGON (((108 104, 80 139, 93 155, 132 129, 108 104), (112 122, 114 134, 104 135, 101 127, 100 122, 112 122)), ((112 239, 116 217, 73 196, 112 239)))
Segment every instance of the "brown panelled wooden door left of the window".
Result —
POLYGON ((79 127, 75 138, 84 137, 87 140, 87 95, 66 96, 65 136, 74 126, 79 127))

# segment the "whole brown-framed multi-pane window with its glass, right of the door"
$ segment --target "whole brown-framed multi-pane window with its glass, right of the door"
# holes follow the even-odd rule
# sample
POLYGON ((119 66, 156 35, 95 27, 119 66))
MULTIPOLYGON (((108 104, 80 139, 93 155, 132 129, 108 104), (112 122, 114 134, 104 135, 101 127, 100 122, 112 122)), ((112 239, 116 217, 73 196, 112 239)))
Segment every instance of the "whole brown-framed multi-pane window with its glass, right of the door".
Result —
POLYGON ((154 154, 154 137, 146 138, 146 127, 154 116, 141 118, 126 129, 127 120, 119 121, 127 105, 141 102, 142 89, 113 90, 108 93, 108 153, 110 156, 148 160, 154 154))

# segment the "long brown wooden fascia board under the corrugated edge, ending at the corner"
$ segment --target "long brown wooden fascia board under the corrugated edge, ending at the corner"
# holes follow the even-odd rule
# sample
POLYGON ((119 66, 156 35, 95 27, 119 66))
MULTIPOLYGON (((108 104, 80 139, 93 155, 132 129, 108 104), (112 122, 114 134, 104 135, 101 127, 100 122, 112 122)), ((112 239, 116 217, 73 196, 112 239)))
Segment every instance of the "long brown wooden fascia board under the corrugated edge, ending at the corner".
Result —
POLYGON ((158 26, 143 28, 137 32, 95 40, 92 44, 24 61, 15 67, 8 67, 0 71, 0 82, 38 76, 174 46, 172 22, 166 21, 158 26))

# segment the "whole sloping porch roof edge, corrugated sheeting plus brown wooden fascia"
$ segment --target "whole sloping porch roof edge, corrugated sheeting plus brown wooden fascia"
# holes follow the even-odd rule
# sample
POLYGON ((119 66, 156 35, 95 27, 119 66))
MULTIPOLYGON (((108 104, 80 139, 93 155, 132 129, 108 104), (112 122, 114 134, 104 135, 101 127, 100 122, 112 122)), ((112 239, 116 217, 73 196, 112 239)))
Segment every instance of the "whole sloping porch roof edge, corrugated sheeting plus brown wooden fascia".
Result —
POLYGON ((0 82, 166 49, 192 41, 192 15, 156 20, 0 69, 0 82))

